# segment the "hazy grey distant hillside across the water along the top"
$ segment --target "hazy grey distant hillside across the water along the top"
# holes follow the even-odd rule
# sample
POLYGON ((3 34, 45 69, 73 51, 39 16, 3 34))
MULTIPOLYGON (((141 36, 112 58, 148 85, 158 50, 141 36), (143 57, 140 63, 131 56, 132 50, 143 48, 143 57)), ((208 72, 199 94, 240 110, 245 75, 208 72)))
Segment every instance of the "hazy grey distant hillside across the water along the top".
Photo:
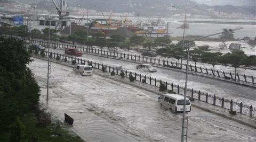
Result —
MULTIPOLYGON (((7 0, 2 0, 7 1, 7 0)), ((55 0, 59 3, 59 0, 55 0)), ((206 4, 200 4, 197 8, 193 8, 189 10, 189 13, 194 15, 209 15, 209 11, 207 9, 214 9, 216 12, 225 12, 231 14, 235 13, 243 13, 243 14, 252 14, 255 15, 255 0, 67 0, 67 4, 69 6, 76 7, 76 5, 81 5, 84 8, 90 8, 93 10, 97 10, 99 12, 110 11, 123 13, 129 12, 137 15, 139 13, 140 16, 148 16, 148 15, 161 15, 163 17, 170 17, 174 14, 183 13, 184 10, 174 10, 172 5, 179 7, 191 7, 194 5, 198 5, 198 3, 194 2, 203 2, 207 1, 209 3, 217 3, 217 1, 221 4, 229 3, 229 4, 241 4, 246 3, 246 5, 250 6, 233 6, 233 5, 215 5, 210 6, 206 4), (98 6, 95 6, 98 5, 98 6)), ((38 8, 51 10, 56 13, 54 10, 54 5, 51 0, 38 0, 38 2, 33 0, 19 0, 20 3, 27 3, 32 5, 37 5, 38 8)))

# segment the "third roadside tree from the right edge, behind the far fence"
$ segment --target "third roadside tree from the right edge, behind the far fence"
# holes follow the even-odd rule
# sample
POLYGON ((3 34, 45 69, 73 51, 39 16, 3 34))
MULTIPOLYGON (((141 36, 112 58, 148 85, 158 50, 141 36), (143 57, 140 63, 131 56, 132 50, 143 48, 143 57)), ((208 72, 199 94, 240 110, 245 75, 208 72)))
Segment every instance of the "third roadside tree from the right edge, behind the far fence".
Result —
POLYGON ((202 54, 202 62, 211 64, 213 66, 213 75, 215 74, 215 65, 219 63, 218 61, 221 55, 221 52, 204 52, 202 54))

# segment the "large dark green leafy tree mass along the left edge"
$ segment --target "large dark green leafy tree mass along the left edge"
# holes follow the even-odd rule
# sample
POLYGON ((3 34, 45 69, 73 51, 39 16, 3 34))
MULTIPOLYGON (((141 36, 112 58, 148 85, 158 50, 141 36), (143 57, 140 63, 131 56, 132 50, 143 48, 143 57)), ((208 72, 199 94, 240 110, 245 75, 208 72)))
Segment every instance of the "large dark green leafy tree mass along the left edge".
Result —
POLYGON ((23 42, 0 39, 0 131, 38 104, 39 86, 26 66, 32 60, 23 42))

